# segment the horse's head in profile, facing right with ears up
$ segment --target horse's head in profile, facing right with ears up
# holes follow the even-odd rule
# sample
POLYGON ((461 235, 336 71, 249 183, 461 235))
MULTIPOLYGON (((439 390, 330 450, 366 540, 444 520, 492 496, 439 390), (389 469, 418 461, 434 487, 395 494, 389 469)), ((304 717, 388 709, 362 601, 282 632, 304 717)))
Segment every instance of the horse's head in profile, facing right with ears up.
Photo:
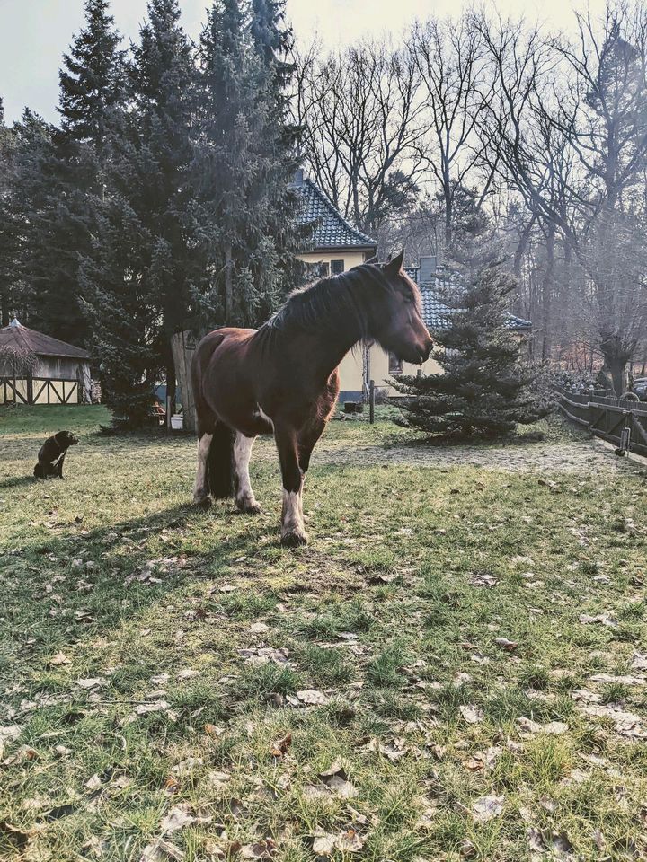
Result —
POLYGON ((433 341, 422 321, 418 286, 403 271, 404 251, 388 263, 374 266, 386 277, 381 305, 374 315, 371 335, 398 359, 421 365, 431 353, 433 341))

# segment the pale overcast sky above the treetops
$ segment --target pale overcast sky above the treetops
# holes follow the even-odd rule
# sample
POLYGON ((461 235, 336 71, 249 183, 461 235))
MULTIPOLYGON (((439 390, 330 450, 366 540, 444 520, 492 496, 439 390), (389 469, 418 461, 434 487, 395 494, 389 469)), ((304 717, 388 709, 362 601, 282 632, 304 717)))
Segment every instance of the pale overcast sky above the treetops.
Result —
MULTIPOLYGON (((348 44, 364 34, 398 35, 415 18, 456 14, 468 0, 288 0, 288 17, 297 38, 315 31, 326 47, 348 44), (369 10, 369 11, 368 11, 369 10)), ((590 0, 593 12, 604 0, 590 0)), ((112 0, 120 32, 137 39, 146 14, 146 0, 112 0)), ((181 0, 183 24, 191 37, 199 33, 208 0, 181 0)), ((554 28, 572 27, 572 8, 584 10, 586 0, 499 0, 504 14, 524 14, 554 28)), ((73 34, 83 24, 83 0, 0 0, 0 96, 5 119, 18 119, 25 105, 46 119, 58 114, 58 68, 73 34)))

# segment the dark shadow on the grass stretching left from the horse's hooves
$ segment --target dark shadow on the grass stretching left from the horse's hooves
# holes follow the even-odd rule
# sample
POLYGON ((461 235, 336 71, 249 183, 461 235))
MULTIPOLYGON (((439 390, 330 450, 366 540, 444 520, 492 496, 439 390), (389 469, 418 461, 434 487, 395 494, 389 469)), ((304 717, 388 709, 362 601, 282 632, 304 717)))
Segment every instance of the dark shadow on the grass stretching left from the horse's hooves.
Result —
POLYGON ((5 632, 13 640, 14 657, 32 664, 39 654, 53 654, 88 636, 110 637, 109 629, 119 629, 126 617, 162 602, 164 595, 191 581, 217 582, 221 576, 235 576, 241 557, 249 570, 256 552, 271 547, 266 541, 265 518, 240 515, 246 519, 243 532, 225 535, 194 552, 191 541, 187 549, 173 548, 170 543, 148 547, 148 537, 163 530, 191 528, 191 523, 201 522, 199 530, 208 531, 214 511, 216 517, 222 515, 220 532, 229 532, 231 509, 223 506, 222 512, 217 507, 202 512, 182 504, 86 534, 67 532, 46 541, 39 538, 18 554, 3 556, 0 550, 0 581, 12 580, 15 586, 3 597, 5 632), (61 557, 66 558, 62 563, 61 557), (167 568, 164 562, 159 569, 155 564, 146 568, 146 564, 164 559, 171 560, 167 568), (84 592, 88 584, 92 587, 84 592))

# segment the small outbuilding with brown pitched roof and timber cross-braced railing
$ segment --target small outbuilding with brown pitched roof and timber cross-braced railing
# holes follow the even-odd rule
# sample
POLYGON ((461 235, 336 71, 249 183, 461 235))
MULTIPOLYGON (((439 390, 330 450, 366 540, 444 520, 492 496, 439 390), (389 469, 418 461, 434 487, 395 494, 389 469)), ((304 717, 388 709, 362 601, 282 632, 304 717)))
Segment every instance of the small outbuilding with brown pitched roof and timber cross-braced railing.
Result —
POLYGON ((0 404, 84 404, 91 400, 90 354, 30 330, 0 329, 0 404))

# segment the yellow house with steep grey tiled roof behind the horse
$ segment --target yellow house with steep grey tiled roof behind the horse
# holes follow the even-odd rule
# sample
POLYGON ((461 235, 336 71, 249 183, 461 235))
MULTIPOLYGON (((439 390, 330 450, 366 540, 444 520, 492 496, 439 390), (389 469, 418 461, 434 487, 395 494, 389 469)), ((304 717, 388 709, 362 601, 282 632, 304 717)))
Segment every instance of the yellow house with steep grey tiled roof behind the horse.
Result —
MULTIPOLYGON (((377 242, 346 221, 312 180, 298 171, 293 188, 302 202, 299 224, 311 229, 310 247, 299 255, 315 277, 338 275, 359 266, 377 252, 377 242)), ((357 347, 341 360, 340 401, 361 400, 367 395, 368 382, 374 380, 378 391, 394 394, 388 379, 392 374, 438 374, 440 365, 432 358, 424 365, 400 363, 378 345, 357 347)))

